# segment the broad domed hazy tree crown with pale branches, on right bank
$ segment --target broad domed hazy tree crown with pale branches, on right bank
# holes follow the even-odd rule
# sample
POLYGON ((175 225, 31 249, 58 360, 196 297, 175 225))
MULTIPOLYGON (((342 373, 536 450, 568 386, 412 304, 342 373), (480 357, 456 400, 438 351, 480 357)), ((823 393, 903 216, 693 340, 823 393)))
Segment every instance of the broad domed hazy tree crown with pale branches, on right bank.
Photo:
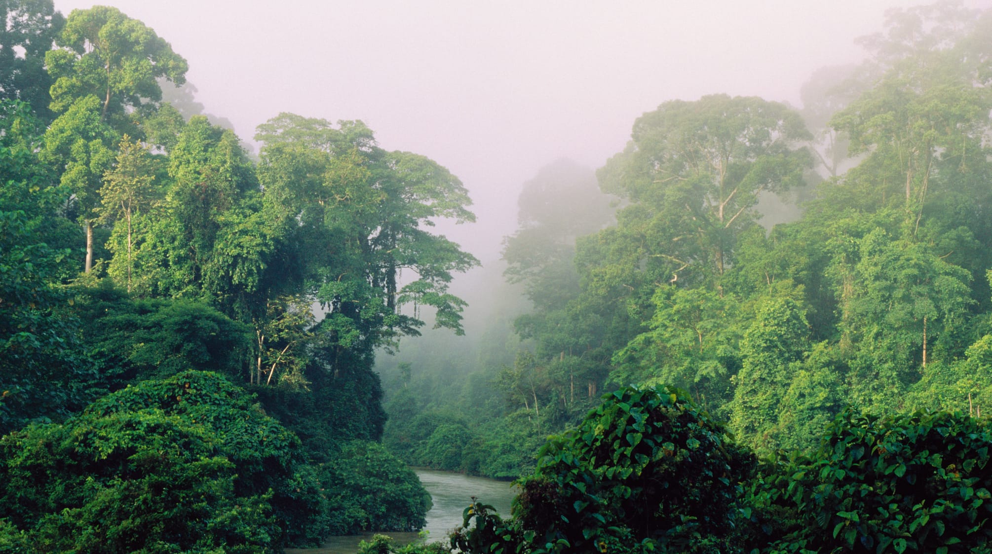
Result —
POLYGON ((634 123, 599 179, 631 201, 618 222, 652 245, 641 258, 659 277, 704 282, 733 264, 758 194, 802 183, 811 161, 796 143, 810 138, 796 112, 760 98, 671 101, 634 123))

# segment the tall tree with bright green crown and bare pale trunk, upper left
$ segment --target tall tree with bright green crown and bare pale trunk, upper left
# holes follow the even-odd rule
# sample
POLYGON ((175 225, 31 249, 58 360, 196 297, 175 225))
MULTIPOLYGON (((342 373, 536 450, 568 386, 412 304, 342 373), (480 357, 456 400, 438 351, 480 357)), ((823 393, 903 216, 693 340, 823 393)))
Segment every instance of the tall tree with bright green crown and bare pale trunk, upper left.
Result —
POLYGON ((129 110, 144 110, 162 98, 158 77, 182 84, 186 59, 138 20, 116 8, 73 10, 45 63, 55 78, 51 108, 62 114, 46 137, 49 162, 62 170, 86 228, 85 271, 92 268, 93 224, 100 205, 96 190, 117 137, 140 137, 129 110))

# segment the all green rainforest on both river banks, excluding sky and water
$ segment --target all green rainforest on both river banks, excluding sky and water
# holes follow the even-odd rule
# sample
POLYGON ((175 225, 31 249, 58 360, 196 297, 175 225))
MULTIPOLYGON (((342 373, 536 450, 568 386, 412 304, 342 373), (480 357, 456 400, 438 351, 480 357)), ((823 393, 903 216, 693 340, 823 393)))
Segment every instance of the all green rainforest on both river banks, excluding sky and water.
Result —
POLYGON ((409 465, 522 478, 466 552, 988 550, 989 13, 662 103, 459 296, 443 166, 291 113, 256 155, 144 23, 0 8, 0 551, 416 530, 409 465))

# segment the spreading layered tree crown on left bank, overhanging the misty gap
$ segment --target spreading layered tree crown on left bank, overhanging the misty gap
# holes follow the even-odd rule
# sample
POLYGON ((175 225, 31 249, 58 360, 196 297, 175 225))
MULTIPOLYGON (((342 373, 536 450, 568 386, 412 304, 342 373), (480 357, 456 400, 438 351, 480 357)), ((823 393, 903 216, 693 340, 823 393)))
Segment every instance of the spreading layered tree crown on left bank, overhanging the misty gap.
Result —
MULTIPOLYGON (((260 126, 256 139, 265 144, 260 178, 267 209, 303 245, 341 245, 322 248, 306 268, 309 286, 331 316, 351 319, 369 346, 417 334, 423 305, 434 308, 436 327, 462 332, 464 301, 447 285, 452 273, 478 261, 428 232, 436 218, 475 219, 454 175, 423 156, 380 149, 361 122, 334 128, 282 114, 260 126), (417 278, 400 282, 404 270, 417 278), (413 316, 400 311, 404 304, 414 306, 413 316)), ((337 327, 347 337, 342 323, 337 327)))

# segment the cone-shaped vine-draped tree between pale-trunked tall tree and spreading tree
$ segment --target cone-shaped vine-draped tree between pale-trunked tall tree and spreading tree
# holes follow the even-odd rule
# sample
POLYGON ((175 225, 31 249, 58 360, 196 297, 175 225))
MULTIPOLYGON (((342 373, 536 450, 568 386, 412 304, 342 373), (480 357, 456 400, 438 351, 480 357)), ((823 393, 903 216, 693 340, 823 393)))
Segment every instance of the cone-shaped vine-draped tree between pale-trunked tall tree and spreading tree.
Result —
POLYGON ((136 290, 201 299, 245 322, 261 317, 293 268, 277 258, 279 230, 258 210, 258 181, 237 137, 192 118, 170 152, 168 178, 169 217, 141 223, 136 290))

